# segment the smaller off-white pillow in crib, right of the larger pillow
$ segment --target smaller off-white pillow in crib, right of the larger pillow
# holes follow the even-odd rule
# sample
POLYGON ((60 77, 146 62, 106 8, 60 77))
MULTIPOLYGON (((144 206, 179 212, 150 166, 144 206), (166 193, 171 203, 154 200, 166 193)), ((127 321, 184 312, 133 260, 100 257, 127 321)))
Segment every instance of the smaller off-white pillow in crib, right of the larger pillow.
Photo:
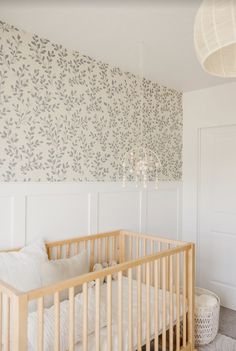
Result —
MULTIPOLYGON (((81 251, 78 255, 55 261, 44 262, 41 265, 42 287, 74 278, 89 272, 89 261, 87 250, 81 251)), ((81 291, 81 286, 76 287, 75 294, 81 291)), ((68 299, 68 289, 60 293, 60 301, 68 299)), ((52 295, 44 298, 44 306, 50 307, 54 303, 52 295)))

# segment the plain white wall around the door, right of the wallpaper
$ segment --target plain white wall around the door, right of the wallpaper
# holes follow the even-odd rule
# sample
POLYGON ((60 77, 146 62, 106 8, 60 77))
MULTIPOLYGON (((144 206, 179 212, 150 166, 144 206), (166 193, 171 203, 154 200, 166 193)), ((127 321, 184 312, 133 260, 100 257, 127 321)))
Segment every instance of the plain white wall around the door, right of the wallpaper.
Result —
POLYGON ((236 83, 185 93, 183 110, 183 238, 197 242, 200 132, 236 124, 236 83))

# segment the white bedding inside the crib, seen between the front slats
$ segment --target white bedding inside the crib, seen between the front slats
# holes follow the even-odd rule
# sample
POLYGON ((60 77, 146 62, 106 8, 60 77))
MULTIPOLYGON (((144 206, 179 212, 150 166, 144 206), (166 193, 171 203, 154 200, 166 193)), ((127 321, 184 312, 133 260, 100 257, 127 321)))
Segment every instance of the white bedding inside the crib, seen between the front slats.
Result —
MULTIPOLYGON (((133 301, 133 345, 134 350, 137 349, 137 282, 132 280, 132 301, 133 301)), ((128 278, 122 278, 122 306, 123 306, 123 350, 128 350, 128 278)), ((158 291, 159 299, 159 334, 162 332, 162 290, 158 291)), ((176 295, 173 298, 173 323, 176 321, 176 295)), ((112 281, 112 350, 118 350, 118 281, 112 281)), ((166 292, 166 329, 169 325, 169 301, 170 294, 166 292)), ((89 287, 88 290, 88 350, 95 350, 95 287, 89 287)), ((154 288, 150 286, 150 337, 154 335, 154 316, 155 308, 154 288)), ((180 296, 180 317, 182 316, 182 296, 180 296)), ((60 303, 60 346, 61 351, 68 349, 69 340, 69 301, 65 300, 60 303)), ((100 349, 107 350, 107 284, 101 286, 100 292, 100 349)), ((44 351, 51 351, 54 345, 54 306, 44 310, 44 351)), ((28 350, 37 350, 37 334, 38 334, 38 316, 37 312, 29 314, 28 319, 28 350)), ((75 296, 75 335, 76 335, 76 351, 83 350, 83 294, 79 293, 75 296)), ((146 285, 142 284, 142 342, 146 341, 146 285)))

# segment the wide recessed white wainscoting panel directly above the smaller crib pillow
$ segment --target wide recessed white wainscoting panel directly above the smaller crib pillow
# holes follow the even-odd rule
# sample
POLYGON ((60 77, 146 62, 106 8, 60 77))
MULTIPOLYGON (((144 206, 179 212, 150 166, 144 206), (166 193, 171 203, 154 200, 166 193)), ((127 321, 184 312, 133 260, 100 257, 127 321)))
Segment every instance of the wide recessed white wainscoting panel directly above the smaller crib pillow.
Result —
POLYGON ((43 235, 61 240, 89 232, 89 194, 27 197, 26 241, 43 235))

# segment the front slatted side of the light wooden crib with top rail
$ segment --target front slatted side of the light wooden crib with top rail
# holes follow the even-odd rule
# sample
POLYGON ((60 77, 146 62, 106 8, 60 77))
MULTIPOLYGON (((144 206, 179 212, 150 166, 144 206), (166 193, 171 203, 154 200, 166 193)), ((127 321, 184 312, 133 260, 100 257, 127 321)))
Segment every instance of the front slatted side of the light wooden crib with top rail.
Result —
MULTIPOLYGON (((83 321, 82 324, 82 349, 83 351, 89 350, 89 304, 90 297, 88 294, 89 283, 94 281, 95 283, 95 343, 96 350, 99 350, 100 344, 100 328, 101 321, 99 320, 100 312, 100 294, 101 284, 104 278, 106 278, 106 326, 107 326, 107 349, 112 350, 113 343, 113 316, 112 316, 112 276, 117 274, 117 309, 118 309, 118 351, 123 349, 123 304, 124 295, 122 293, 123 276, 126 275, 128 280, 128 343, 129 350, 133 350, 134 346, 137 346, 137 350, 140 351, 143 346, 143 340, 146 342, 146 349, 150 351, 150 341, 152 336, 152 328, 155 325, 155 350, 160 350, 159 344, 162 344, 162 350, 167 350, 167 347, 171 351, 180 350, 194 350, 194 245, 185 244, 183 246, 175 247, 166 251, 159 252, 157 254, 140 257, 137 260, 123 262, 117 266, 109 267, 102 271, 90 272, 86 275, 72 278, 70 280, 59 282, 51 286, 30 291, 27 293, 27 301, 37 301, 37 314, 38 314, 38 336, 37 345, 38 350, 42 351, 44 347, 44 298, 48 295, 53 296, 54 299, 54 350, 60 350, 60 325, 61 325, 61 313, 60 313, 60 293, 62 291, 68 291, 69 296, 69 347, 70 351, 75 349, 75 333, 76 333, 76 321, 75 321, 75 291, 77 286, 82 287, 83 297, 83 308, 82 315, 80 318, 83 321), (181 259, 183 260, 184 266, 181 266, 181 259), (167 270, 169 264, 169 270, 167 270), (142 279, 143 268, 145 268, 145 283, 142 279), (174 274, 176 273, 176 274, 174 274), (181 283, 181 276, 183 281, 181 283), (135 278, 134 278, 135 277, 135 278), (158 302, 160 279, 162 282, 162 301, 158 302), (152 280, 153 279, 153 280, 152 280), (135 283, 134 283, 135 282, 135 283), (168 285, 169 283, 169 285, 168 285), (134 303, 133 289, 134 285, 137 284, 137 314, 136 318, 133 316, 132 306, 134 303), (143 284, 145 284, 146 300, 143 302, 143 284), (181 291, 181 285, 183 285, 183 291, 181 291), (155 308, 152 310, 150 307, 150 291, 155 291, 155 308), (175 296, 175 297, 174 297, 175 296), (182 296, 182 300, 181 300, 182 296), (168 299, 170 299, 169 301, 168 299), (176 302, 175 302, 176 299, 176 302), (169 305, 167 304, 169 301, 169 305), (143 307, 143 303, 145 307, 143 307), (161 306, 161 307, 160 307, 161 306), (169 306, 169 307, 167 307, 169 306), (143 315, 142 310, 145 309, 146 327, 143 327, 143 315), (158 309, 162 309, 160 317, 158 309), (167 315, 167 309, 169 317, 167 315), (160 320, 161 318, 161 320, 160 320), (169 318, 169 320, 168 320, 169 318), (181 323, 183 324, 183 335, 181 335, 181 323), (160 336, 160 325, 162 324, 162 330, 160 336), (158 326, 159 325, 159 326, 158 326), (135 329, 134 328, 137 328, 135 329), (137 335, 137 345, 134 345, 134 333, 137 335), (145 334, 144 334, 145 333, 145 334), (159 348, 158 348, 159 347, 159 348)), ((136 298, 135 298, 136 299, 136 298)), ((20 308, 19 308, 20 311, 20 308)), ((20 340, 20 342, 25 342, 20 340)), ((18 349, 17 349, 18 350, 18 349)), ((22 349, 21 349, 22 350, 22 349)))

